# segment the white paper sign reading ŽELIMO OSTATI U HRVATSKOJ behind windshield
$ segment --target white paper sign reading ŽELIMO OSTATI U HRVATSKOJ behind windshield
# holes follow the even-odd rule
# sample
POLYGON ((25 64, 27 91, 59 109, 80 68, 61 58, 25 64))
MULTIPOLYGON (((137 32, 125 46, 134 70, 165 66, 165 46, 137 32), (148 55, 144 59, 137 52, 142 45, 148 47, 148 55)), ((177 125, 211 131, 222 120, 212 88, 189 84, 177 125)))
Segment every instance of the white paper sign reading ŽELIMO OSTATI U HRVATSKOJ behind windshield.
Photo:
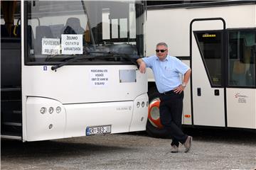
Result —
POLYGON ((81 55, 82 34, 62 34, 61 51, 63 55, 81 55))

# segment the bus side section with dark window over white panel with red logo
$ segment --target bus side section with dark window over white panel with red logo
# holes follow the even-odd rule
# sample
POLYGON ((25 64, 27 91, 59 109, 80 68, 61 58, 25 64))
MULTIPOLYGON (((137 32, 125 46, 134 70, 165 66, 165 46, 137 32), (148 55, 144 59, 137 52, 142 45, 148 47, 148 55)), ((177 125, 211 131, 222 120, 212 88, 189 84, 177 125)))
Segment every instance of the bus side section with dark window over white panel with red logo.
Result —
POLYGON ((227 126, 256 128, 256 29, 227 31, 227 126))

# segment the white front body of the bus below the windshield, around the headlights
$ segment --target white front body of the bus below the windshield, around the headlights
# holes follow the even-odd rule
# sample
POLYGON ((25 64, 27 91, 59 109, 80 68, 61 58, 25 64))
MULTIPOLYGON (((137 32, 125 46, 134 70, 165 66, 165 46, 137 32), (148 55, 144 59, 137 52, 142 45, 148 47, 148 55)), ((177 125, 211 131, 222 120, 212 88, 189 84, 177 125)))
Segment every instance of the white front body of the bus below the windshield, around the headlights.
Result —
POLYGON ((24 141, 85 136, 88 126, 111 125, 112 133, 145 130, 148 101, 146 74, 134 65, 25 66, 23 74, 24 141), (95 85, 93 70, 107 70, 104 85, 95 85), (135 82, 120 82, 119 70, 133 70, 135 82), (144 102, 144 107, 137 102, 144 102), (41 114, 42 107, 52 114, 41 114), (61 113, 55 108, 60 106, 61 113), (51 128, 50 128, 51 126, 51 128))

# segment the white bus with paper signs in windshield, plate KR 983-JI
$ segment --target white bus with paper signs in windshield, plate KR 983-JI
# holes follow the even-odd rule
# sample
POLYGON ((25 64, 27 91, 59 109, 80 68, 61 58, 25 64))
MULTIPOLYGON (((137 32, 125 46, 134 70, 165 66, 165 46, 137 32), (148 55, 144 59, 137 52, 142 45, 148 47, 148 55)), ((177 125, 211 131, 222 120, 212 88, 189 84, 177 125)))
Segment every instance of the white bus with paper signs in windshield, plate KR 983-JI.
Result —
POLYGON ((1 137, 145 130, 143 1, 1 1, 1 137))

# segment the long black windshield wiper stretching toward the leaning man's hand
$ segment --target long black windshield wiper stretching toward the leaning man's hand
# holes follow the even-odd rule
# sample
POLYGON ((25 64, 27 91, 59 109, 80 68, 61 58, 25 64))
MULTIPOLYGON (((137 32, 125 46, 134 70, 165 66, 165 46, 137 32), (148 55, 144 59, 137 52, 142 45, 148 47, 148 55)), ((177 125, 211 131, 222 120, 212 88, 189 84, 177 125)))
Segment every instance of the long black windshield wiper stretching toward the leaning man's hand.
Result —
MULTIPOLYGON (((134 54, 126 54, 126 53, 119 53, 119 52, 100 52, 99 51, 99 52, 87 52, 86 55, 90 55, 90 54, 103 54, 103 55, 110 55, 112 57, 124 57, 124 58, 128 59, 130 62, 132 62, 132 64, 135 64, 139 68, 139 65, 136 62, 137 59, 131 57, 131 55, 134 55, 134 54)), ((85 56, 85 55, 82 55, 82 56, 78 56, 78 57, 73 57, 70 60, 67 60, 66 62, 63 62, 63 63, 57 64, 55 66, 52 66, 51 69, 56 70, 60 67, 65 66, 66 64, 68 64, 70 62, 75 62, 76 60, 95 59, 95 58, 100 58, 100 57, 105 57, 105 56, 102 56, 102 55, 99 55, 99 56, 85 56)))

